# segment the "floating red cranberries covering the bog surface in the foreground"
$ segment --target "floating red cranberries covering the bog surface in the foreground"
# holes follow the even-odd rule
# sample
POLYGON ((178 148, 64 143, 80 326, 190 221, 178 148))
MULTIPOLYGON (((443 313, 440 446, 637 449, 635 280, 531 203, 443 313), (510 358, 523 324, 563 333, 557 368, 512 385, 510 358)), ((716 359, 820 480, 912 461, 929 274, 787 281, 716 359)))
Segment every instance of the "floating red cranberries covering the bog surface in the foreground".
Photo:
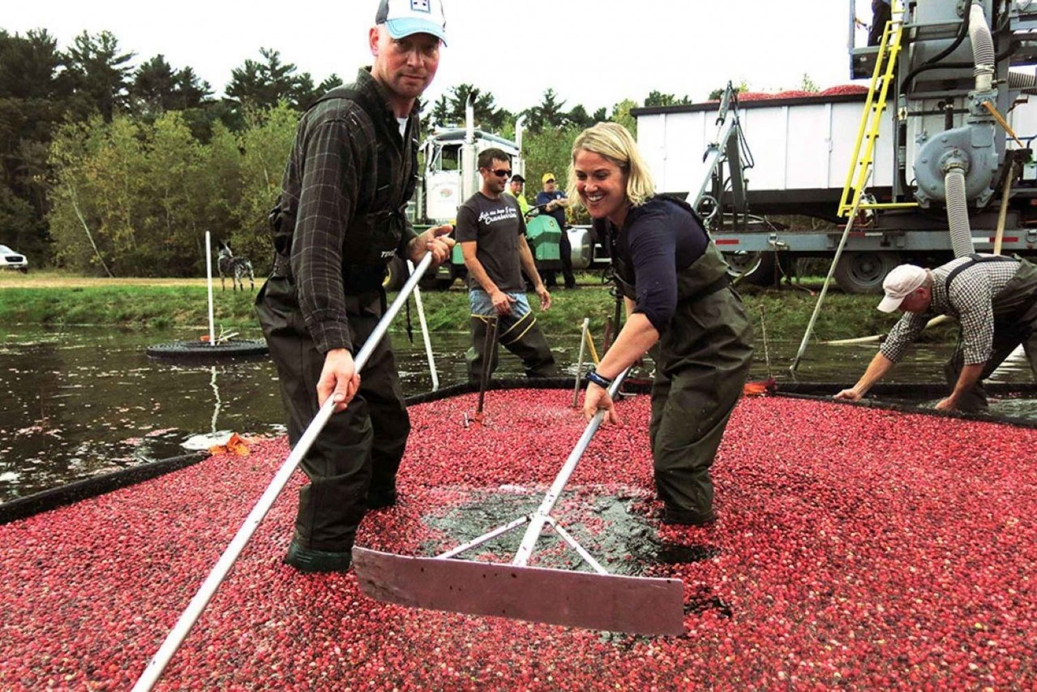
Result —
MULTIPOLYGON (((412 406, 400 502, 358 545, 435 555, 535 508, 585 426, 571 397, 491 391, 481 422, 475 394, 412 406)), ((669 527, 648 397, 619 407, 557 510, 610 572, 681 579, 682 636, 413 610, 352 572, 299 574, 280 562, 298 473, 158 689, 1037 686, 1037 431, 745 398, 713 467, 719 522, 669 527)), ((0 689, 129 689, 287 452, 255 440, 0 526, 0 689)), ((553 542, 541 565, 579 561, 553 542)))

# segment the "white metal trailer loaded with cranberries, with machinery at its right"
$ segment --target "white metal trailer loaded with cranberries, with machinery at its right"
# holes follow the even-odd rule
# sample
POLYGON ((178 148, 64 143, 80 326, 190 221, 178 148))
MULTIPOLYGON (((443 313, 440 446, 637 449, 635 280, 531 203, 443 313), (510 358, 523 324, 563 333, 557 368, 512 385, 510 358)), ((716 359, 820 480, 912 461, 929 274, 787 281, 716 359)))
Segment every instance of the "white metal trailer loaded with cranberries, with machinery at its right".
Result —
MULTIPOLYGON (((890 103, 875 123, 866 190, 874 201, 862 204, 867 211, 836 270, 840 286, 851 293, 880 290, 882 278, 902 261, 933 266, 954 256, 942 177, 946 171, 938 166, 964 170, 965 227, 975 251, 993 249, 1003 185, 1010 178, 1002 249, 1037 253, 1037 166, 1029 150, 1037 138, 1037 104, 1027 95, 1037 80, 1032 70, 1009 73, 1010 66, 1037 63, 1037 41, 1028 33, 1037 28, 1037 3, 1032 10, 1029 2, 1016 0, 908 0, 902 7, 902 24, 891 25, 902 28, 891 31, 888 44, 900 38, 890 103), (990 80, 979 84, 973 32, 984 19, 996 59, 990 80), (991 109, 1003 115, 1017 140, 1006 134, 991 109)), ((850 78, 871 78, 879 47, 860 45, 864 36, 853 21, 854 0, 849 12, 850 78)), ((861 19, 866 23, 869 18, 870 10, 861 19)), ((874 91, 847 90, 737 104, 750 146, 742 161, 746 195, 749 211, 758 216, 749 223, 725 222, 738 212, 737 190, 725 179, 716 193, 722 213, 713 228, 717 244, 737 271, 770 278, 776 264, 783 264, 776 258, 833 256, 842 228, 815 220, 839 222, 841 205, 845 213, 844 190, 852 187, 851 174, 861 165, 854 151, 864 132, 863 111, 876 105, 874 91), (788 218, 779 223, 776 216, 788 218)), ((633 111, 638 142, 658 191, 694 192, 693 182, 701 179, 701 153, 716 143, 717 107, 706 103, 633 111)), ((731 178, 736 183, 737 177, 732 170, 731 178)))

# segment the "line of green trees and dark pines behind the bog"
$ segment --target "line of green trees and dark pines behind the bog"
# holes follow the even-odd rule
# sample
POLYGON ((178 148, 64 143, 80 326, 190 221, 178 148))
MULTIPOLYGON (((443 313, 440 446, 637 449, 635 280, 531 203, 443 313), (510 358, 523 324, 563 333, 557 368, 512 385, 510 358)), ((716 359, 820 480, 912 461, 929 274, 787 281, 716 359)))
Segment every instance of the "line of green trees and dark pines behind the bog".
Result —
MULTIPOLYGON (((34 266, 197 276, 209 230, 269 268, 267 213, 299 116, 342 79, 315 82, 260 48, 215 98, 190 66, 135 57, 107 31, 84 31, 61 50, 46 29, 0 29, 0 243, 34 266)), ((460 84, 423 104, 425 131, 464 123, 470 96, 483 130, 513 137, 525 116, 531 184, 546 170, 564 175, 581 129, 609 118, 633 129, 632 108, 691 103, 652 91, 588 113, 548 89, 511 113, 489 90, 460 84)))

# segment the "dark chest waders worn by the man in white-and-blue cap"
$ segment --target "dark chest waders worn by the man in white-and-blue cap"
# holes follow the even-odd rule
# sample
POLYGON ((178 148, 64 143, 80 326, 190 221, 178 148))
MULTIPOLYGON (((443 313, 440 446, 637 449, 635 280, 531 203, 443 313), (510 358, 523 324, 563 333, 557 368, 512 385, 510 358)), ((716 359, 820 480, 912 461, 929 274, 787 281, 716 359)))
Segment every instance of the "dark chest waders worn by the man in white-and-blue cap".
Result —
MULTIPOLYGON (((357 103, 364 111, 359 115, 366 114, 375 132, 375 179, 361 175, 361 203, 342 243, 343 299, 356 352, 385 312, 385 268, 408 240, 403 211, 417 171, 416 133, 411 133, 408 147, 398 130, 386 122, 385 105, 371 103, 363 91, 334 89, 314 106, 331 99, 357 103), (409 181, 402 188, 393 185, 399 179, 393 171, 400 167, 403 179, 409 181)), ((369 167, 361 173, 364 170, 369 167)), ((271 214, 276 260, 256 309, 277 365, 281 397, 288 411, 288 437, 295 446, 318 411, 316 386, 325 354, 317 351, 299 308, 290 268, 296 214, 282 202, 271 214)), ((396 472, 410 430, 387 337, 371 353, 357 396, 348 408, 329 419, 301 463, 310 482, 300 492, 287 563, 306 572, 349 566, 349 550, 366 509, 395 503, 396 472)))

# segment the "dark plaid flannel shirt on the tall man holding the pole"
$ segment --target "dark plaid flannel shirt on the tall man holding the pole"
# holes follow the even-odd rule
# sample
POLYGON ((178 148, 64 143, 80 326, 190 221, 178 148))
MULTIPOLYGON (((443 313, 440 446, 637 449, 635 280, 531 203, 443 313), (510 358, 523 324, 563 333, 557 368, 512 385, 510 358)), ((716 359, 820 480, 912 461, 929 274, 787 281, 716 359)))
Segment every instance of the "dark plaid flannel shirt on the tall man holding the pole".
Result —
MULTIPOLYGON (((399 136, 399 123, 388 96, 367 70, 354 87, 385 104, 381 114, 392 141, 392 185, 389 205, 402 206, 403 191, 417 170, 418 104, 415 102, 399 136)), ((291 243, 291 274, 303 320, 317 351, 352 349, 342 281, 345 231, 357 213, 372 209, 377 181, 379 137, 386 139, 363 109, 345 99, 332 99, 308 110, 299 123, 281 184, 281 203, 296 215, 291 243)), ((410 221, 401 244, 415 236, 410 221)))

